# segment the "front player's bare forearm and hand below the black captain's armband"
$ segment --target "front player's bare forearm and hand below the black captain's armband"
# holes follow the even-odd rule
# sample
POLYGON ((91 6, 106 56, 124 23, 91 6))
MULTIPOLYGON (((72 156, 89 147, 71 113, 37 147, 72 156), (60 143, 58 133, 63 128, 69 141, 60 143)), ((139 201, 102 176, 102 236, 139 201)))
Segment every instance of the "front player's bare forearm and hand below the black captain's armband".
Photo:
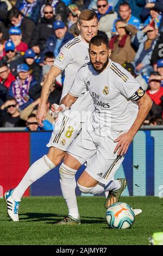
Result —
POLYGON ((152 100, 146 93, 145 95, 143 95, 143 97, 141 97, 140 100, 137 101, 137 103, 139 106, 139 112, 134 121, 134 124, 131 126, 128 132, 123 133, 117 139, 115 139, 115 142, 118 142, 115 148, 115 153, 118 150, 117 155, 122 156, 123 154, 127 153, 131 141, 133 141, 136 132, 140 129, 141 125, 143 124, 143 121, 145 120, 148 112, 152 107, 152 100))

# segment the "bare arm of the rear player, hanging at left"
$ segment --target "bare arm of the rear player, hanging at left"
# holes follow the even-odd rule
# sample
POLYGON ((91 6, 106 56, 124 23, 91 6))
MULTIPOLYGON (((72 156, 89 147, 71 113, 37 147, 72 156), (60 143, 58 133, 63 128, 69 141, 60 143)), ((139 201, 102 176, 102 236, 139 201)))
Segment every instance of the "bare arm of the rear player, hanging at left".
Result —
POLYGON ((36 114, 37 123, 40 126, 43 126, 42 121, 45 119, 45 116, 46 116, 46 107, 45 106, 46 106, 48 96, 52 91, 53 81, 59 74, 61 74, 61 70, 58 69, 56 66, 52 66, 52 68, 49 70, 49 72, 45 78, 45 81, 43 83, 40 104, 39 104, 39 108, 38 108, 37 114, 36 114))

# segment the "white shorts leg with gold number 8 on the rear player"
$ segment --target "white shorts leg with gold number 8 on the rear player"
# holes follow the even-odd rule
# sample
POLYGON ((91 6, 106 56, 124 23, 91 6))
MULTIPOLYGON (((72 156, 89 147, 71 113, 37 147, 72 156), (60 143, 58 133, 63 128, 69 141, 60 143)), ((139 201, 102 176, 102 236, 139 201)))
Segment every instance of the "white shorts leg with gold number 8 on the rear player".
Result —
POLYGON ((55 147, 67 151, 73 139, 78 136, 81 129, 82 123, 60 113, 55 122, 54 130, 47 147, 55 147))

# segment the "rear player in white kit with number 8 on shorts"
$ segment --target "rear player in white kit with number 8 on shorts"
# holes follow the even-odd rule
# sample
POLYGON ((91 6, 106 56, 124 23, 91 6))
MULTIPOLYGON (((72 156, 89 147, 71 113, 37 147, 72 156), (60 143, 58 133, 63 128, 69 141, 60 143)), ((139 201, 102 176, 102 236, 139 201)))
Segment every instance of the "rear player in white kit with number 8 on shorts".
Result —
MULTIPOLYGON (((37 120, 39 125, 42 125, 42 121, 46 116, 46 102, 49 94, 51 93, 51 85, 55 78, 65 70, 65 81, 62 91, 62 97, 64 97, 77 75, 79 68, 89 62, 89 41, 97 34, 98 31, 98 17, 92 10, 83 10, 79 15, 78 28, 80 35, 77 38, 67 42, 64 47, 61 48, 60 53, 54 60, 51 70, 48 72, 46 80, 43 84, 41 92, 41 100, 39 109, 37 111, 37 120)), ((60 164, 61 160, 65 156, 68 146, 77 136, 81 129, 81 122, 85 121, 85 115, 82 117, 82 111, 93 111, 93 103, 89 92, 86 92, 80 99, 74 104, 72 110, 65 112, 65 114, 59 115, 57 122, 55 123, 52 137, 47 144, 49 151, 47 155, 41 157, 32 164, 24 175, 20 184, 14 190, 9 190, 5 193, 5 199, 7 201, 8 214, 13 221, 18 221, 18 208, 20 206, 20 200, 27 190, 27 188, 35 182, 37 179, 45 175, 49 170, 55 168, 60 164), (78 115, 73 109, 77 109, 78 115), (73 117, 72 118, 70 118, 73 117)), ((75 180, 74 180, 75 182, 75 180)), ((67 184, 66 184, 67 185, 67 184)), ((62 186, 62 185, 61 185, 62 186)), ((64 184, 63 184, 64 186, 64 184)), ((66 188, 65 188, 66 190, 66 188)))

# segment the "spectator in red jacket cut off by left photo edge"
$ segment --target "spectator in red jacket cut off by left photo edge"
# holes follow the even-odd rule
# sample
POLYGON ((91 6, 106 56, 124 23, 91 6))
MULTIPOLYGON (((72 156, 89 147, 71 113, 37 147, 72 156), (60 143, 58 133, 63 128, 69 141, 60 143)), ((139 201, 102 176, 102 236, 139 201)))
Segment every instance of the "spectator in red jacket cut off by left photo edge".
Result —
POLYGON ((15 81, 15 76, 12 75, 8 65, 0 63, 0 83, 3 83, 6 88, 9 88, 13 81, 15 81))

